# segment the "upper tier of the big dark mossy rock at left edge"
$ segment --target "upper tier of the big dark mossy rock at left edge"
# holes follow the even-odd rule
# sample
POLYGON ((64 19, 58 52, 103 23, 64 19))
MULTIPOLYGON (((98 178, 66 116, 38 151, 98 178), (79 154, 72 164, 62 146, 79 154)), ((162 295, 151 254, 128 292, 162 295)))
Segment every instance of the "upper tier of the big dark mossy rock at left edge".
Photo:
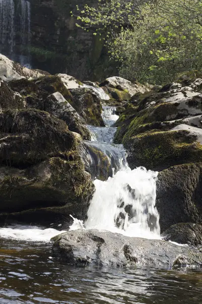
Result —
POLYGON ((66 123, 36 109, 0 113, 0 163, 29 166, 74 149, 77 140, 66 123))

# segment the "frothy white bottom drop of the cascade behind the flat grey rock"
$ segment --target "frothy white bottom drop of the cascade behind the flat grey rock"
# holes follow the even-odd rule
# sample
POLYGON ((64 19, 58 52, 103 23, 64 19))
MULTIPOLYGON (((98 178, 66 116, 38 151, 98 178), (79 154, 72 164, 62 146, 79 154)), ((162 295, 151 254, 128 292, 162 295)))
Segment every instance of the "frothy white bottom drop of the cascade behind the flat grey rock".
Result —
MULTIPOLYGON (((108 230, 129 237, 161 239, 156 203, 158 172, 126 167, 107 181, 95 180, 85 229, 108 230)), ((71 230, 80 229, 74 221, 71 230)))

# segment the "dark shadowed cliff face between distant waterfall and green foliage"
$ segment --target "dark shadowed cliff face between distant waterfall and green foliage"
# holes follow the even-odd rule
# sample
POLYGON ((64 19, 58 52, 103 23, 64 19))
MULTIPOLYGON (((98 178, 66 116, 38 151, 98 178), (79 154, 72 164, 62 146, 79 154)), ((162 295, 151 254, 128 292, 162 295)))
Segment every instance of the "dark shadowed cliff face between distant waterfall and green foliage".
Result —
MULTIPOLYGON (((51 73, 65 72, 80 80, 100 80, 116 71, 109 63, 104 41, 76 26, 76 4, 94 1, 30 0, 31 64, 51 73)), ((96 2, 94 2, 96 3, 96 2)))

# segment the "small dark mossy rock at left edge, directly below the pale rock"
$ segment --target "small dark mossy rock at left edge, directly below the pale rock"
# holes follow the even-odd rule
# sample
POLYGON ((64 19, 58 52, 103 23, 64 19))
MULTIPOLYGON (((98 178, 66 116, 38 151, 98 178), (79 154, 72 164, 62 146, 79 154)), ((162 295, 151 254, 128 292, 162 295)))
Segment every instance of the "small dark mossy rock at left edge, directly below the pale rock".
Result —
POLYGON ((0 78, 0 108, 23 109, 26 101, 18 93, 11 90, 8 84, 0 78))

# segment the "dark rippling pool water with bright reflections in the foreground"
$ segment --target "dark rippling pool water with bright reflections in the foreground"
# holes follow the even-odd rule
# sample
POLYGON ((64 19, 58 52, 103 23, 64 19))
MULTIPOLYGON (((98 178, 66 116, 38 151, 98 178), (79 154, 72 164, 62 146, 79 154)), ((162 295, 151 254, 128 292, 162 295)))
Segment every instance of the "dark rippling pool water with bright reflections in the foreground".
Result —
POLYGON ((202 302, 202 273, 149 268, 75 268, 51 256, 50 243, 0 239, 0 303, 202 302))

